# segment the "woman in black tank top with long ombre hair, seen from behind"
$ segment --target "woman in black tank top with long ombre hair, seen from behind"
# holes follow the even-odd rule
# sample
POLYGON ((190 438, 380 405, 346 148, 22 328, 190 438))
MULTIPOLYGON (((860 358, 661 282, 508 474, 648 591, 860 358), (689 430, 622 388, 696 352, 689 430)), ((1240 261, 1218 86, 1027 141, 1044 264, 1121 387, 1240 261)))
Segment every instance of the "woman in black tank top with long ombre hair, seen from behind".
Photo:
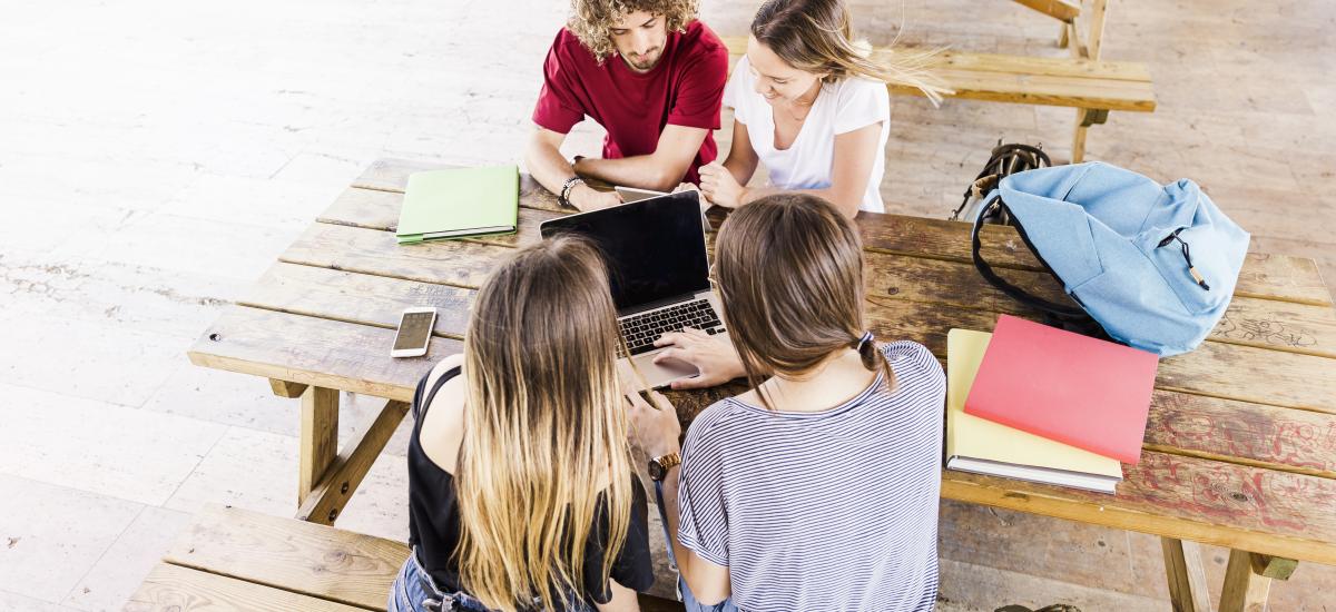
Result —
POLYGON ((637 609, 653 583, 597 253, 545 241, 484 283, 464 354, 413 397, 389 611, 637 609))

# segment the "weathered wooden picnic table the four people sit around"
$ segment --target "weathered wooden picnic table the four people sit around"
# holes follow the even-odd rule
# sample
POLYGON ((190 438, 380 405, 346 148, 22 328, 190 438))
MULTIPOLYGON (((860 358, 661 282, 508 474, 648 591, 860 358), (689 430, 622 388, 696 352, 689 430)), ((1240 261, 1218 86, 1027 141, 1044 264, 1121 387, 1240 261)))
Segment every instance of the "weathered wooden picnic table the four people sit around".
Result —
MULTIPOLYGON (((298 517, 333 524, 406 412, 418 378, 461 350, 489 270, 572 212, 521 180, 514 235, 413 246, 394 226, 409 174, 371 164, 190 350, 194 363, 269 378, 302 405, 298 517), (391 359, 399 313, 440 311, 430 351, 391 359), (337 450, 339 392, 386 400, 337 450)), ((713 219, 717 222, 717 218, 713 219)), ((951 327, 991 330, 999 313, 1038 318, 970 265, 966 223, 859 214, 868 319, 945 359, 951 327)), ((1051 299, 1061 287, 1009 227, 989 226, 990 261, 1051 299)), ((673 392, 684 425, 724 390, 673 392)), ((1162 359, 1141 462, 1117 494, 942 470, 942 497, 1162 537, 1176 609, 1204 611, 1193 543, 1232 549, 1222 611, 1261 609, 1296 561, 1336 564, 1336 309, 1311 259, 1249 254, 1228 313, 1197 350, 1162 359)))

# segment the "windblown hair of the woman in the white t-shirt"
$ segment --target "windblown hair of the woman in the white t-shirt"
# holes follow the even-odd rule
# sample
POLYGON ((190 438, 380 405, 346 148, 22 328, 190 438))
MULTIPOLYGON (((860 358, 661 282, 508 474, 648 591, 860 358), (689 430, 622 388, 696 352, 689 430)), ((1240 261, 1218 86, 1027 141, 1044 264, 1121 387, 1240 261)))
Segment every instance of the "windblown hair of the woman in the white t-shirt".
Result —
POLYGON ((898 48, 872 59, 871 45, 854 37, 843 0, 768 0, 756 9, 751 33, 788 65, 826 72, 828 82, 859 76, 912 87, 933 104, 951 94, 929 69, 937 51, 898 48))

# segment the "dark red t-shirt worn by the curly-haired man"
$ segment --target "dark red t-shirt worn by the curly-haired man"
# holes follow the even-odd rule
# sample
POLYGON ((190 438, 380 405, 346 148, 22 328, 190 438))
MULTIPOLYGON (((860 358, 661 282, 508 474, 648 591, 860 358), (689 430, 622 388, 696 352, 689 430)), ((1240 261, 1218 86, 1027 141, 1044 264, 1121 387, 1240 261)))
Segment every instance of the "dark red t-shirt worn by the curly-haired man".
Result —
MULTIPOLYGON (((608 136, 607 159, 649 155, 665 124, 719 130, 719 106, 728 80, 728 49, 705 24, 668 32, 659 64, 637 73, 619 56, 603 64, 576 35, 561 28, 542 65, 542 91, 533 123, 566 134, 589 115, 608 136)), ((705 135, 684 180, 699 183, 696 168, 715 160, 715 136, 705 135)))

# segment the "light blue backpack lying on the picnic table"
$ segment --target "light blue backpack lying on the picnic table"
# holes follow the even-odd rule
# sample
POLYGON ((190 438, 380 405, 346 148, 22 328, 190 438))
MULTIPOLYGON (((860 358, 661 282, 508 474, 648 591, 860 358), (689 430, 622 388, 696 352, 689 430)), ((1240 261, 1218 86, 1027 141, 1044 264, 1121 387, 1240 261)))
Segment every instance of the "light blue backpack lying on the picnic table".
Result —
POLYGON ((1249 235, 1197 183, 1160 186, 1092 162, 1003 178, 974 220, 974 267, 1007 295, 1065 326, 1094 319, 1113 339, 1176 355, 1196 349, 1229 306, 1249 235), (1006 282, 979 253, 983 218, 1001 207, 1081 307, 1006 282))

